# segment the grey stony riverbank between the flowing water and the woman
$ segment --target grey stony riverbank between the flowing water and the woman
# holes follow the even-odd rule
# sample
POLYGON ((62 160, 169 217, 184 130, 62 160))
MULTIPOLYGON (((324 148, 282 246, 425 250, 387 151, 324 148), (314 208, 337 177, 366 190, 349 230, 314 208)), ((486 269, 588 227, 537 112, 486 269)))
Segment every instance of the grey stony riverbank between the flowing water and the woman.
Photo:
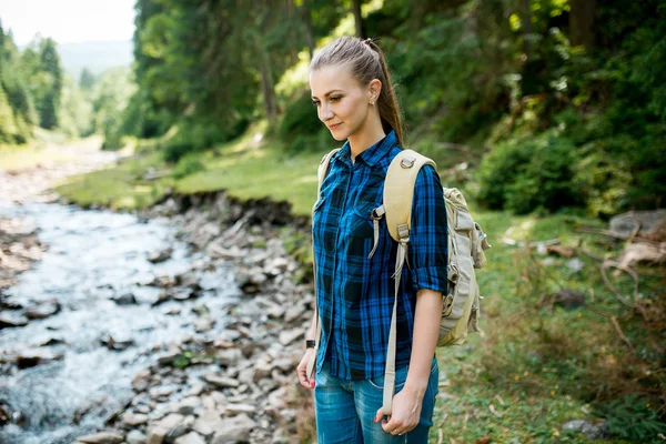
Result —
MULTIPOLYGON (((303 265, 287 254, 284 239, 302 231, 304 221, 285 226, 287 206, 240 203, 224 193, 169 199, 142 216, 169 216, 184 240, 212 259, 206 266, 235 270, 243 296, 230 307, 221 335, 205 334, 219 320, 200 306, 195 330, 202 335, 155 350, 152 365, 132 382, 131 400, 110 415, 107 427, 78 442, 300 441, 313 427, 310 393, 297 384, 295 366, 314 296, 310 284, 295 283, 303 265)), ((155 303, 196 297, 200 287, 188 276, 151 284, 162 289, 155 303)))

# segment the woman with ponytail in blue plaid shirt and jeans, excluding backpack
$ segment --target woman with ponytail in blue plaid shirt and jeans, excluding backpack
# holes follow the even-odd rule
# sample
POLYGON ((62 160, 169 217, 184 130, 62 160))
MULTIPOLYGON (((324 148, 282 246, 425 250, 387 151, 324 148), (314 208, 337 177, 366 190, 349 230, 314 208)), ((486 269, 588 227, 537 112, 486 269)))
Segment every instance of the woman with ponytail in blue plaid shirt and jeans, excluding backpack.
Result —
POLYGON ((315 324, 297 366, 314 389, 317 441, 426 443, 438 369, 434 357, 446 289, 446 210, 442 184, 426 165, 417 176, 408 264, 397 306, 395 395, 382 414, 389 330, 394 302, 396 243, 385 221, 374 245, 371 211, 382 204, 384 178, 402 150, 401 113, 382 50, 343 37, 310 64, 310 88, 320 120, 345 141, 331 158, 313 211, 315 286, 322 335, 315 324), (316 375, 307 363, 316 360, 316 375))

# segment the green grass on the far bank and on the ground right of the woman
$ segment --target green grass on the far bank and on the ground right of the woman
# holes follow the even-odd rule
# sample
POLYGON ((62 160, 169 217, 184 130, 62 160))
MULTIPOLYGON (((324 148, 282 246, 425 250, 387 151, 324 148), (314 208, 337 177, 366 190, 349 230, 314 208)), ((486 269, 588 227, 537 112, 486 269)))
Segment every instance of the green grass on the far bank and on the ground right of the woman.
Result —
MULTIPOLYGON (((228 190, 241 199, 286 200, 293 213, 309 214, 323 153, 286 157, 280 143, 261 139, 261 128, 254 128, 236 141, 185 157, 174 168, 159 152, 148 150, 118 168, 74 178, 58 191, 84 205, 135 209, 150 205, 169 188, 180 193, 228 190), (196 165, 190 174, 189 165, 196 165), (149 181, 149 171, 164 175, 149 181), (173 171, 180 171, 178 179, 173 171)), ((599 315, 617 316, 637 349, 645 342, 645 329, 605 286, 597 260, 578 254, 583 269, 575 271, 567 266, 568 259, 509 246, 502 238, 508 233, 516 241, 558 239, 562 245, 584 248, 599 258, 616 256, 622 244, 577 233, 579 225, 604 223, 576 214, 514 216, 478 210, 473 202, 471 210, 493 245, 486 252, 486 268, 477 272, 485 297, 484 337, 473 335, 464 346, 437 351, 445 385, 431 442, 441 434, 444 443, 473 443, 484 436, 496 443, 586 443, 584 435, 567 434, 562 425, 603 415, 596 398, 619 398, 626 391, 642 389, 629 384, 625 390, 617 381, 640 380, 645 377, 640 372, 655 369, 659 373, 659 360, 650 361, 646 347, 642 350, 647 357, 640 357, 638 350, 628 353, 609 320, 599 315), (565 287, 582 292, 587 306, 567 311, 547 303, 549 294, 565 287)), ((292 254, 309 260, 306 235, 289 231, 284 239, 292 254)), ((646 300, 663 294, 663 273, 650 273, 640 284, 640 297, 646 300)), ((614 280, 619 292, 630 294, 626 276, 614 280)), ((649 380, 652 386, 659 386, 656 377, 649 380)), ((665 381, 660 384, 666 387, 665 381)), ((643 398, 635 403, 650 408, 643 398)))

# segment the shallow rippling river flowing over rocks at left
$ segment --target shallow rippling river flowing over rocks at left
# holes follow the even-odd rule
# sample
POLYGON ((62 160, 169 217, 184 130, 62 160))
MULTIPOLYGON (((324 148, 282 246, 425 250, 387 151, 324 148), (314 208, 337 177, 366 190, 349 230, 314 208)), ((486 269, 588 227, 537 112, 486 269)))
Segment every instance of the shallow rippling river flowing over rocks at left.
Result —
POLYGON ((129 402, 131 381, 150 365, 153 352, 190 336, 219 334, 225 306, 240 294, 231 271, 191 251, 165 218, 140 220, 53 203, 4 203, 0 216, 34 224, 48 246, 42 260, 6 291, 4 301, 23 307, 53 300, 60 305, 49 317, 0 330, 0 404, 18 420, 0 428, 6 444, 69 444, 101 428, 129 402), (167 249, 170 259, 148 260, 167 249), (196 297, 158 304, 164 290, 151 285, 155 278, 183 274, 198 282, 196 297), (119 296, 124 302, 113 301, 119 296), (128 303, 131 296, 134 303, 128 303), (198 333, 202 306, 218 322, 198 333), (22 370, 12 363, 34 353, 53 360, 22 370))

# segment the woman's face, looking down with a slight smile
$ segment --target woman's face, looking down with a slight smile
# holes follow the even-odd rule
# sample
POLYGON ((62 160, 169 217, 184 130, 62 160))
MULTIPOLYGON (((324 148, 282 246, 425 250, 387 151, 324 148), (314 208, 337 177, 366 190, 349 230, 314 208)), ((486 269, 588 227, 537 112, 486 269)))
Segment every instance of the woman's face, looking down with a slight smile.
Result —
POLYGON ((379 95, 374 89, 361 87, 346 67, 325 67, 310 73, 310 90, 319 119, 337 141, 364 130, 371 115, 370 102, 376 101, 379 95))

